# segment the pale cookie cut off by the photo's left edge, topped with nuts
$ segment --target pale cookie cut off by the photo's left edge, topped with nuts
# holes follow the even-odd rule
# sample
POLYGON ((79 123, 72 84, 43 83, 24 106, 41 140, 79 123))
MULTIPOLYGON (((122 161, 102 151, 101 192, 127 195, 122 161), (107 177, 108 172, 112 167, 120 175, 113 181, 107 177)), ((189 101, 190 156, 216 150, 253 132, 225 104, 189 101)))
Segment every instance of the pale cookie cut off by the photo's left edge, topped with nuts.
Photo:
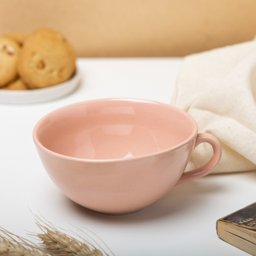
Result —
POLYGON ((9 37, 0 37, 0 87, 3 87, 17 77, 17 65, 20 46, 9 37))

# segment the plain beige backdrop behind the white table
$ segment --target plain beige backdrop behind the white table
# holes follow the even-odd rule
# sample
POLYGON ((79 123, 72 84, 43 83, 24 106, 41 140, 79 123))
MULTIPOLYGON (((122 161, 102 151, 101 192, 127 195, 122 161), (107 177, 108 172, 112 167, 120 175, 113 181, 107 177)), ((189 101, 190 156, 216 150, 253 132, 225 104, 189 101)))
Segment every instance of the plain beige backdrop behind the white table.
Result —
POLYGON ((0 0, 0 34, 47 26, 78 56, 183 56, 252 39, 255 14, 255 0, 0 0))

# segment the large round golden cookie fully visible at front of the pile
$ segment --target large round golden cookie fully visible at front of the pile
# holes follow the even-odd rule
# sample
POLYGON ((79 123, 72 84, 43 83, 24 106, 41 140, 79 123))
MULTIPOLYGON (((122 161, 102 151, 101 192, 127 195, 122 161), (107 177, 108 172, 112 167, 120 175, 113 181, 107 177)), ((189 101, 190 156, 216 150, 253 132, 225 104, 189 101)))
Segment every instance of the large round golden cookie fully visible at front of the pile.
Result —
POLYGON ((65 82, 74 74, 75 68, 75 51, 59 32, 38 29, 26 38, 19 58, 18 74, 30 89, 65 82))

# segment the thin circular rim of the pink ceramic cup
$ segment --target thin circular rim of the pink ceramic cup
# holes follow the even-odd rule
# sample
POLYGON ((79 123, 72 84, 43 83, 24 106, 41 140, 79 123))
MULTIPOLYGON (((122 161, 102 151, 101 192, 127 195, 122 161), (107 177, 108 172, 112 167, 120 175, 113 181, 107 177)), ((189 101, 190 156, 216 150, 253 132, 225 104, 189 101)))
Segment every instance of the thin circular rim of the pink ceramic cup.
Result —
POLYGON ((167 103, 164 103, 164 102, 159 102, 159 101, 154 101, 154 100, 138 99, 138 98, 103 98, 103 99, 94 99, 94 100, 86 100, 86 101, 76 102, 76 103, 69 104, 69 105, 66 105, 66 106, 63 106, 63 107, 60 107, 60 108, 57 108, 57 109, 51 111, 50 113, 46 114, 41 119, 39 119, 39 121, 36 123, 36 125, 33 129, 33 140, 34 140, 36 146, 38 148, 40 148, 42 151, 44 151, 44 153, 55 156, 55 157, 59 157, 59 158, 62 158, 62 159, 67 159, 67 160, 75 161, 75 162, 83 162, 83 163, 113 163, 113 162, 133 161, 133 160, 137 160, 137 159, 143 159, 143 158, 147 158, 147 157, 152 157, 152 156, 162 155, 162 154, 165 154, 165 153, 170 153, 172 151, 175 151, 175 150, 183 147, 184 145, 186 145, 187 143, 189 143, 190 141, 195 139, 196 136, 197 136, 197 133, 198 133, 198 125, 197 125, 195 119, 192 116, 190 116, 186 111, 184 111, 180 108, 177 108, 175 106, 172 106, 170 104, 167 104, 167 103), (111 101, 111 100, 137 101, 137 102, 142 102, 142 103, 143 102, 145 102, 145 103, 146 102, 148 102, 148 103, 153 102, 153 103, 157 103, 158 105, 164 105, 164 106, 174 108, 175 110, 180 111, 181 113, 185 114, 190 119, 191 124, 194 124, 193 125, 194 126, 193 131, 191 132, 191 135, 186 140, 182 141, 181 143, 179 143, 179 144, 177 144, 173 147, 170 147, 170 148, 167 148, 167 149, 164 149, 164 150, 161 150, 161 151, 157 151, 157 152, 154 152, 154 153, 150 153, 150 154, 145 154, 145 155, 140 155, 140 156, 132 156, 132 157, 127 157, 127 158, 86 159, 86 158, 78 158, 78 157, 73 157, 73 156, 66 156, 66 155, 56 153, 56 152, 54 152, 50 149, 47 149, 46 147, 44 147, 42 145, 41 142, 39 142, 39 140, 37 138, 37 133, 38 133, 39 126, 44 121, 44 119, 46 119, 52 113, 58 112, 58 111, 63 110, 65 108, 69 108, 71 106, 83 105, 84 103, 97 102, 97 101, 111 101))

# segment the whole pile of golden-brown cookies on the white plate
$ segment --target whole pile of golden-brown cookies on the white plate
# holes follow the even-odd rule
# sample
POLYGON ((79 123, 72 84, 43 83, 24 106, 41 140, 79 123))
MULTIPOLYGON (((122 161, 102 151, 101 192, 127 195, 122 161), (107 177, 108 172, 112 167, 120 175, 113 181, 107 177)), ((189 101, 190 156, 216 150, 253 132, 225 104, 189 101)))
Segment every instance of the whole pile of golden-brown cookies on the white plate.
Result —
POLYGON ((67 81, 76 69, 76 55, 58 31, 38 29, 31 35, 0 36, 0 88, 38 89, 67 81))

